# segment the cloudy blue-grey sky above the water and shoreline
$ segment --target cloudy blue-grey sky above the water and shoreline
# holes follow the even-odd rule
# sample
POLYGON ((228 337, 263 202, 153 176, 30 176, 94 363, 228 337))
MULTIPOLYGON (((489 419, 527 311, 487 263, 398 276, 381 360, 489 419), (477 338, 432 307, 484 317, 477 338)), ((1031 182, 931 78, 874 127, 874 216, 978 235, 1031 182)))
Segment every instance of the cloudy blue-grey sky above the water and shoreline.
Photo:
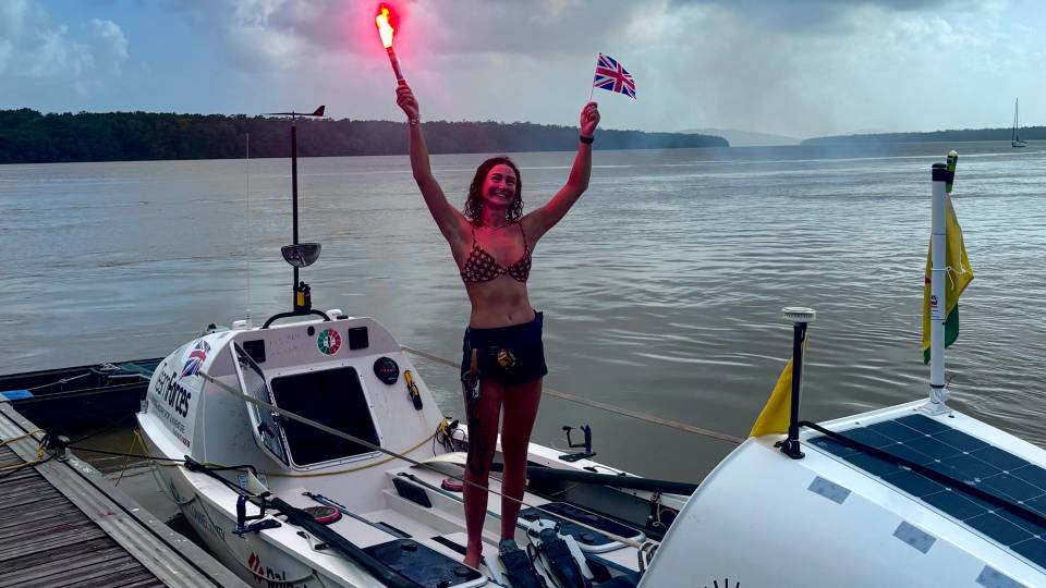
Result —
MULTIPOLYGON (((390 0, 426 120, 795 137, 1046 124, 1043 0, 390 0)), ((0 109, 400 120, 372 0, 0 0, 0 109)))

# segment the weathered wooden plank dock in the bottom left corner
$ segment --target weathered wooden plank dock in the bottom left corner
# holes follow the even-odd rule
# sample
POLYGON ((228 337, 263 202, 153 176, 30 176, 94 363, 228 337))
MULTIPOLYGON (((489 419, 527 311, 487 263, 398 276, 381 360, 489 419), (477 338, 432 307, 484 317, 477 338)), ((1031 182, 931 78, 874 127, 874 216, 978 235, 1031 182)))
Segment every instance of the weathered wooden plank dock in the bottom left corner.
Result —
MULTIPOLYGON (((35 429, 0 403, 0 441, 35 429)), ((0 446, 0 588, 247 586, 73 455, 12 471, 38 438, 0 446)))

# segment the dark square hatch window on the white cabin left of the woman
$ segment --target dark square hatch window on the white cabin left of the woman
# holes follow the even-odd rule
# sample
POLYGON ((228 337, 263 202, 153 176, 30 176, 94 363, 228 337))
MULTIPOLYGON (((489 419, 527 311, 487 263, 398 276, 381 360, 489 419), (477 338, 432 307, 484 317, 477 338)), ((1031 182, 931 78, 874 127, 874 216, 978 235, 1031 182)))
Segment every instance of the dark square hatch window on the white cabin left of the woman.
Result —
MULTIPOLYGON (((360 377, 351 367, 273 378, 276 405, 332 429, 380 445, 360 377)), ((296 465, 311 465, 372 453, 367 446, 319 429, 281 419, 283 434, 296 465)))

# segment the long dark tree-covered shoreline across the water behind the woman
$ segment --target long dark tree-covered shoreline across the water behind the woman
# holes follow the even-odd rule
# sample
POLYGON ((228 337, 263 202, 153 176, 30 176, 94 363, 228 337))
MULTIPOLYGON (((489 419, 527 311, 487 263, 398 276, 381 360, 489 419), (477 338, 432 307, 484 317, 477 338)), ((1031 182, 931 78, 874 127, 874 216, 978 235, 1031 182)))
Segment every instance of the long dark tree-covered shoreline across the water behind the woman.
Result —
MULTIPOLYGON (((406 125, 389 121, 300 120, 302 157, 403 155, 406 125)), ((569 151, 576 126, 532 123, 424 123, 434 154, 569 151)), ((107 112, 40 114, 27 108, 0 110, 0 163, 226 159, 290 157, 285 120, 223 114, 107 112)), ((599 149, 726 147, 726 139, 683 133, 599 130, 599 149)))

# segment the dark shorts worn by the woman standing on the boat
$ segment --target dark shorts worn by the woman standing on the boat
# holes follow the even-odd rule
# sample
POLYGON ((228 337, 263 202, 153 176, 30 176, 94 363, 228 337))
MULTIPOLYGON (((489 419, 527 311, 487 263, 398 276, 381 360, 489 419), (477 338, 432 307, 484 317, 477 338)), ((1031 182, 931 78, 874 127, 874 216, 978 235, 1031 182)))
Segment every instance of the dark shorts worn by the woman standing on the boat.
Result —
POLYGON ((472 350, 478 352, 479 379, 514 385, 532 382, 548 373, 542 343, 542 313, 534 320, 511 327, 465 329, 462 343, 461 379, 472 369, 472 350))

